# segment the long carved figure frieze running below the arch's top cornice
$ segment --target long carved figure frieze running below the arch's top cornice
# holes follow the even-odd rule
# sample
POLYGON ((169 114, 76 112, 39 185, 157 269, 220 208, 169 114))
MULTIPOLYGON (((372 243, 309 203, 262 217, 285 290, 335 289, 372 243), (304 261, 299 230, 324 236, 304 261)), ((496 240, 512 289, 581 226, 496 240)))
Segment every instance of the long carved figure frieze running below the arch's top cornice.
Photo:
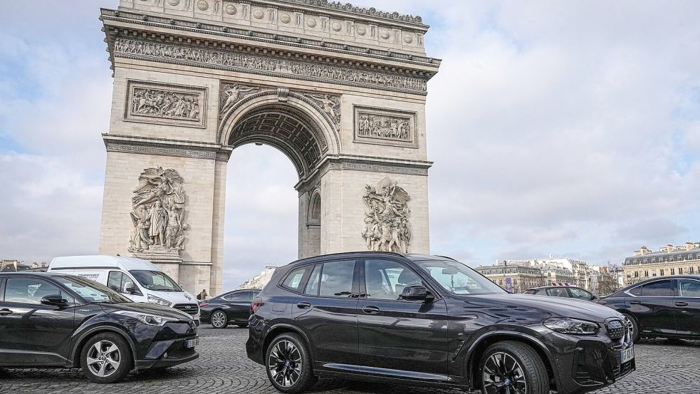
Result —
POLYGON ((187 66, 244 71, 283 78, 332 82, 409 93, 424 94, 427 88, 426 81, 418 78, 325 66, 304 61, 267 58, 229 51, 214 51, 167 43, 137 41, 130 38, 116 38, 114 54, 122 58, 142 58, 187 66))

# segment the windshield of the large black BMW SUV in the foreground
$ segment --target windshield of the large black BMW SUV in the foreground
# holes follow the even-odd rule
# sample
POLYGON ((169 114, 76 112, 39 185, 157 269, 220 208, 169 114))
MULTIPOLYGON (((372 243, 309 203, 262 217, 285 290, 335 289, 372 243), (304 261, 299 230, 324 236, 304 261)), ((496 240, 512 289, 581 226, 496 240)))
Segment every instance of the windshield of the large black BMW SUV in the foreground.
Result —
POLYGON ((426 260, 416 261, 416 263, 430 274, 443 289, 452 294, 501 294, 506 292, 497 284, 459 261, 426 260))

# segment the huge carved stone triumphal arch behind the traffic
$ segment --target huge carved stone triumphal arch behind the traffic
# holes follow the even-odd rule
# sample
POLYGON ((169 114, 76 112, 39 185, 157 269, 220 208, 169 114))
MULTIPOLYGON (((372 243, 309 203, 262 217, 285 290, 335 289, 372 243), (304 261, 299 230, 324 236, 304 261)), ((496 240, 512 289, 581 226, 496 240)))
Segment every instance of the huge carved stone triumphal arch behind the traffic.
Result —
MULTIPOLYGON (((121 0, 100 253, 221 291, 226 162, 249 143, 298 172, 299 256, 428 252, 418 16, 326 0, 121 0)), ((236 251, 229 251, 236 253, 236 251)))

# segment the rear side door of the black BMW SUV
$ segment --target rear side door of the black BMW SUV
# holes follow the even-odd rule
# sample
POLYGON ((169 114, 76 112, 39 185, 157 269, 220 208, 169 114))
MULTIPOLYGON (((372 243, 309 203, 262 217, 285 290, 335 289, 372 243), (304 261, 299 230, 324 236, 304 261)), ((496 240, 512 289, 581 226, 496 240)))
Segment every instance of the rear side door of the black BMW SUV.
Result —
MULTIPOLYGON (((309 338, 316 368, 352 370, 357 366, 357 260, 305 266, 303 294, 294 297, 292 318, 309 338), (307 280, 308 279, 308 280, 307 280)), ((292 281, 293 282, 293 281, 292 281)), ((292 287, 293 283, 288 287, 292 287)))

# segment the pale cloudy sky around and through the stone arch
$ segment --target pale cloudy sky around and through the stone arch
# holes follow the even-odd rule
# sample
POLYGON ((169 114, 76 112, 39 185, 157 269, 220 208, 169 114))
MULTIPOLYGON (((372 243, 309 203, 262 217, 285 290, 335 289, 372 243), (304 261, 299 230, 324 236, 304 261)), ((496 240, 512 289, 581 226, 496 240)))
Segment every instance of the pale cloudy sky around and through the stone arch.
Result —
MULTIPOLYGON (((0 258, 98 248, 112 78, 98 7, 0 13, 0 258)), ((620 263, 700 241, 698 1, 390 1, 442 58, 427 104, 434 254, 620 263)), ((224 287, 296 258, 296 172, 229 162, 224 287)))

